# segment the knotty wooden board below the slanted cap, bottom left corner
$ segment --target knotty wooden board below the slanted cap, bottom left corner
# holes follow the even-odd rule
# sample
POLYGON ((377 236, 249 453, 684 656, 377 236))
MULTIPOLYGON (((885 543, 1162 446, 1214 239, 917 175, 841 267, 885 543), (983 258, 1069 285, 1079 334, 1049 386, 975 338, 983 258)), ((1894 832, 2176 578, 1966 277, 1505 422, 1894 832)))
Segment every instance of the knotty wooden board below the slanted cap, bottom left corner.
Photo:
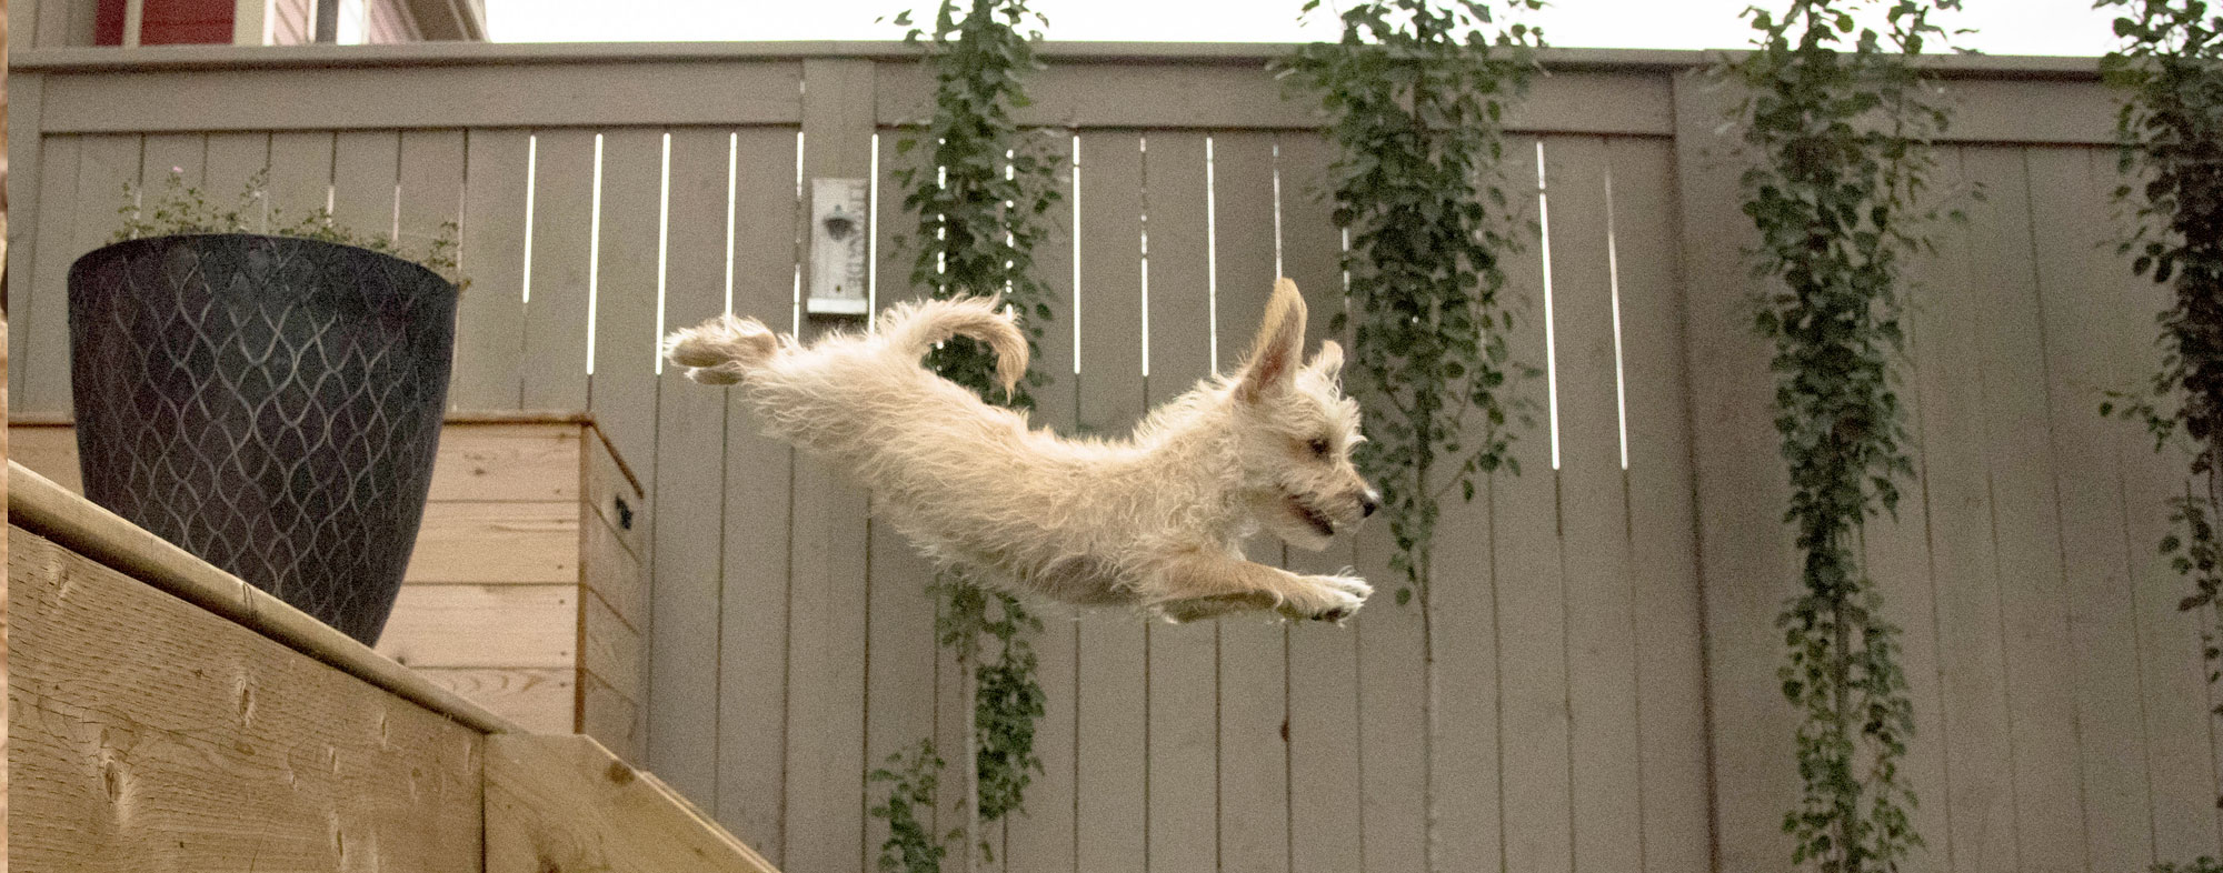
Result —
POLYGON ((476 869, 469 726, 20 526, 9 589, 18 866, 476 869))

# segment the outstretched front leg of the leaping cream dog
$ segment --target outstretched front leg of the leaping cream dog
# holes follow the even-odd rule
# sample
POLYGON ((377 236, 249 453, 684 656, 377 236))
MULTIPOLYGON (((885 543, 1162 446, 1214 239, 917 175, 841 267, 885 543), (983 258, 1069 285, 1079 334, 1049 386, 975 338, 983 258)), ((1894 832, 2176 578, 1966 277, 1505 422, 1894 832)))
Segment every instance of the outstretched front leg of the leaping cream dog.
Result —
POLYGON ((1374 593, 1349 575, 1296 575, 1225 555, 1187 555, 1165 569, 1165 591, 1152 609, 1176 622, 1240 609, 1274 609, 1296 620, 1340 622, 1374 593))

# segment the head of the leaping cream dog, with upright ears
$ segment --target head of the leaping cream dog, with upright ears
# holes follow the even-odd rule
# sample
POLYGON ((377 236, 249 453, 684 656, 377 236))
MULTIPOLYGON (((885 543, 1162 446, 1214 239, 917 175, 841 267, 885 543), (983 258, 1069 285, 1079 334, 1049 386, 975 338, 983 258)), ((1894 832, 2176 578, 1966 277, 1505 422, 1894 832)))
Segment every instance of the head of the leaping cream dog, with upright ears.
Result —
POLYGON ((1252 511, 1285 542, 1318 551, 1338 526, 1372 515, 1380 495, 1352 464, 1358 402, 1343 395, 1343 347, 1303 355, 1305 298, 1280 280, 1236 375, 1232 418, 1252 511))

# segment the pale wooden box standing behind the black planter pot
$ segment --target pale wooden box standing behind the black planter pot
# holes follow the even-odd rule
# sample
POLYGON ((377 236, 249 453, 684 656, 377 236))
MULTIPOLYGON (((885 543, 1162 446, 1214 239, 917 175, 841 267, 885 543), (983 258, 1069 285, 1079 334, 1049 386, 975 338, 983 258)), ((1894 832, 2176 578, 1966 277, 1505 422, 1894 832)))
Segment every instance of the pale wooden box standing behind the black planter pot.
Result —
MULTIPOLYGON (((82 493, 67 422, 9 424, 13 458, 82 493)), ((536 733, 642 760, 647 500, 594 420, 451 415, 378 653, 536 733)))

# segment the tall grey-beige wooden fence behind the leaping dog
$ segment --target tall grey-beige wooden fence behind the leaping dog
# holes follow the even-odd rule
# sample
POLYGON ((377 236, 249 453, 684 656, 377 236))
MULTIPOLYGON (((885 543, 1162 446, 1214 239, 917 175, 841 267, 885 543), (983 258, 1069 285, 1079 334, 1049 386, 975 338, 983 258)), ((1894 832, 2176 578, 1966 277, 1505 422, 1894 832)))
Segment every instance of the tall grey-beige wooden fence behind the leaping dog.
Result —
MULTIPOLYGON (((1049 51, 1023 118, 1069 131, 1040 420, 1118 431, 1240 351, 1274 275, 1334 309, 1329 147, 1276 47, 1049 51)), ((1438 531, 1423 606, 1345 629, 1051 609, 1049 715, 1009 871, 1787 866, 1794 580, 1750 333, 1729 98, 1689 53, 1558 53, 1514 116, 1545 240, 1516 351, 1549 364, 1527 475, 1438 531)), ((1912 869, 2136 871, 2214 853, 2196 622, 2154 560, 2174 460, 2096 415, 2161 295, 2114 258, 2090 62, 1958 60, 1972 220, 1921 264, 1918 480, 1867 555, 1907 631, 1912 869)), ((660 373, 667 327, 818 331, 800 182, 874 178, 885 304, 911 295, 889 173, 927 78, 889 44, 22 51, 11 69, 9 389, 69 409, 62 275, 124 180, 178 167, 422 240, 460 218, 458 409, 591 409, 656 502, 649 764, 791 873, 858 871, 865 771, 963 742, 929 566, 869 495, 660 373)), ((1314 327, 1320 331, 1325 318, 1314 327)), ((1289 566, 1387 580, 1385 531, 1289 566)), ((1267 546, 1278 555, 1278 546, 1267 546)), ((949 815, 956 815, 954 811, 949 815)), ((945 817, 945 826, 954 820, 945 817)))

